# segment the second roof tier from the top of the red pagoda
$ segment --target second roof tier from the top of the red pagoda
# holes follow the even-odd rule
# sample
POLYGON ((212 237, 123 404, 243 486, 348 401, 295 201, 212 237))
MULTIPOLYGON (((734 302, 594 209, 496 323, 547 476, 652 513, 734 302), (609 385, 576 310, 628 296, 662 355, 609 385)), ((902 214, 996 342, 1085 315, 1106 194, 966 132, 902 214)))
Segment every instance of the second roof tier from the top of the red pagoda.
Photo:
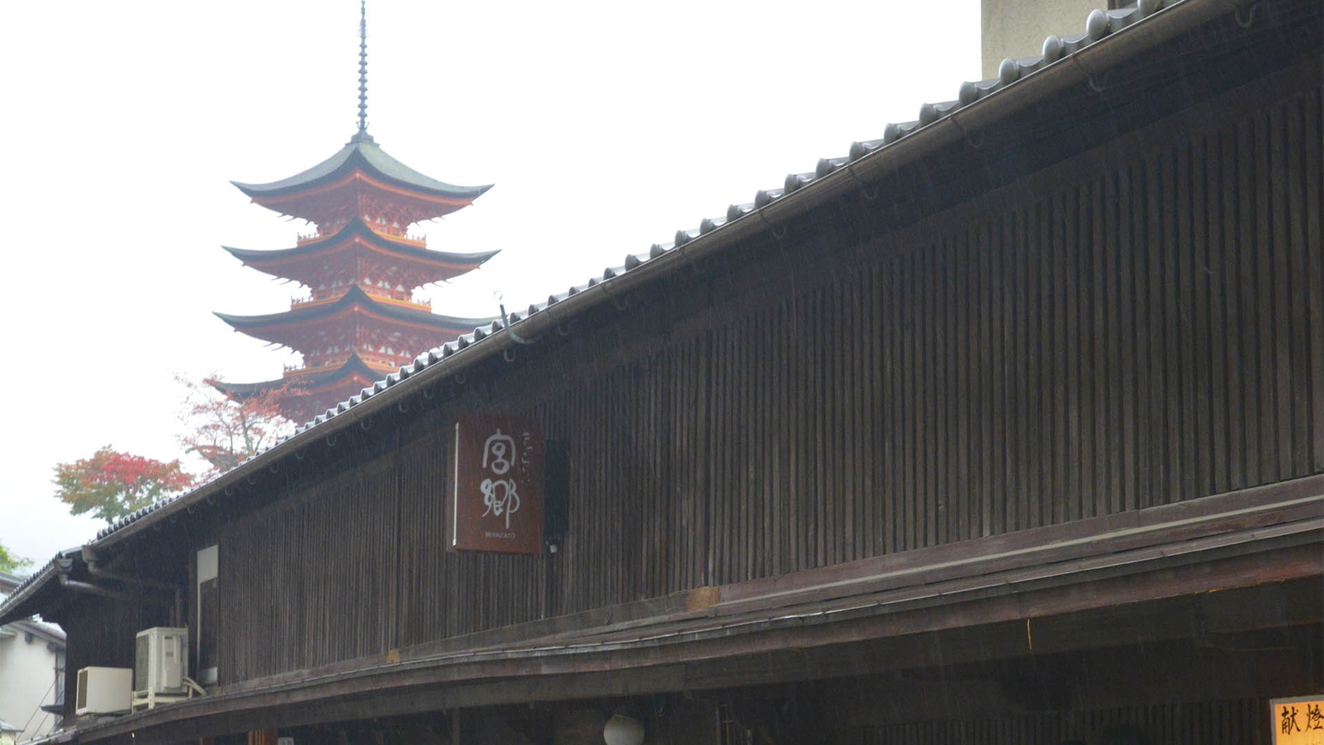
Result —
MULTIPOLYGON (((432 251, 425 248, 421 241, 381 235, 359 217, 354 217, 332 235, 316 236, 294 248, 278 251, 248 251, 228 245, 221 248, 242 261, 245 266, 275 277, 295 280, 308 286, 315 286, 316 278, 326 273, 326 258, 334 255, 339 257, 350 252, 360 252, 365 257, 380 257, 402 264, 412 274, 430 277, 421 282, 426 284, 471 272, 500 252, 499 249, 474 253, 432 251)), ((413 288, 405 289, 412 290, 413 288)))

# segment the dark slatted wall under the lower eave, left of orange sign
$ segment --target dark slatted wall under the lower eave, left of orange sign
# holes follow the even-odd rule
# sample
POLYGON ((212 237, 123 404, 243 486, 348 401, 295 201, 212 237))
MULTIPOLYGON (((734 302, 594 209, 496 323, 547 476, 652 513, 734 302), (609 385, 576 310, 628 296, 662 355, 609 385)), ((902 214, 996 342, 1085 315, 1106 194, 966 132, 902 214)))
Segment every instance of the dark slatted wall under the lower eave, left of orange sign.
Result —
MULTIPOLYGON (((1201 701, 1155 704, 1087 712, 1045 712, 899 724, 869 729, 834 742, 858 745, 1062 745, 1104 742, 1112 728, 1132 726, 1145 742, 1164 745, 1260 745, 1270 742, 1274 722, 1268 701, 1201 701)), ((1108 740, 1112 742, 1112 740, 1108 740)), ((1124 741, 1117 741, 1124 742, 1124 741)))

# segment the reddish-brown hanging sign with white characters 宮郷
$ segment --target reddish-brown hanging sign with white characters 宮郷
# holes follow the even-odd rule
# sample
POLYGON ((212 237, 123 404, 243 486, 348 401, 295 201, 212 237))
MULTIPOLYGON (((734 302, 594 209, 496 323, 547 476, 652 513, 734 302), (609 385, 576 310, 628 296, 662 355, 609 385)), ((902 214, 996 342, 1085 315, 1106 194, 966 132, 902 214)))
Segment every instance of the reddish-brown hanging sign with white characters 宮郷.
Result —
POLYGON ((448 549, 542 553, 544 449, 532 422, 455 418, 448 549))

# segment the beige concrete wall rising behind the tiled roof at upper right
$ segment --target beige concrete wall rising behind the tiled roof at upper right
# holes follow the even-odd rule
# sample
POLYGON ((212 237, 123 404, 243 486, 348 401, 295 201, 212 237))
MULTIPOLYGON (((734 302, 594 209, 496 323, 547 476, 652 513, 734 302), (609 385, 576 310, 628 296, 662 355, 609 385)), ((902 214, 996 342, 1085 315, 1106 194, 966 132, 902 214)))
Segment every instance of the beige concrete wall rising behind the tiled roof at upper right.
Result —
POLYGON ((1084 20, 1108 0, 981 0, 980 61, 984 78, 1012 57, 1037 57, 1045 37, 1084 33, 1084 20))

